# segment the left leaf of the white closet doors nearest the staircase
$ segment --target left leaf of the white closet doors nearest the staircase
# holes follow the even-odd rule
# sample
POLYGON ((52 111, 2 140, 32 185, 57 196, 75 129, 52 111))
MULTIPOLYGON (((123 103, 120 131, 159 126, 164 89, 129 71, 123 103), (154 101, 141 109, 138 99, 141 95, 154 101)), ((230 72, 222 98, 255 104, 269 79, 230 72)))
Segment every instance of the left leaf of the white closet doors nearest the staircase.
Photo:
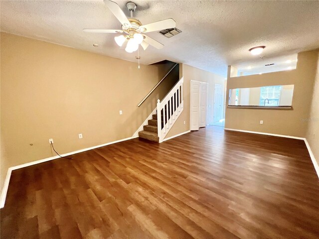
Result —
POLYGON ((199 81, 190 81, 190 130, 199 129, 199 81))

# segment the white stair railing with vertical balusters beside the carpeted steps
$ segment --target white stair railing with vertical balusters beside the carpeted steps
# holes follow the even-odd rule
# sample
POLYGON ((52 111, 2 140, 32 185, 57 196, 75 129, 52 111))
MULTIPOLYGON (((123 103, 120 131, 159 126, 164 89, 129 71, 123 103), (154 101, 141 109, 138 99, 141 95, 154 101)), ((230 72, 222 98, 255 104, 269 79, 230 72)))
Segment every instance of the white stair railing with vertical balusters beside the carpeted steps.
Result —
POLYGON ((157 115, 160 143, 183 111, 183 82, 184 78, 182 77, 162 101, 158 100, 157 115))

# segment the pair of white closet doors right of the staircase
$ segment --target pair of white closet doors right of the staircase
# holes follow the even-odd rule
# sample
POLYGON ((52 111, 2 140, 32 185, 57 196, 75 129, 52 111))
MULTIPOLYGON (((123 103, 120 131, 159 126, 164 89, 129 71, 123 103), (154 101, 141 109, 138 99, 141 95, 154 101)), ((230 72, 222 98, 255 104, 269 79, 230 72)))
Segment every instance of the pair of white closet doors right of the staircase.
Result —
POLYGON ((207 125, 208 83, 190 81, 190 130, 207 125))

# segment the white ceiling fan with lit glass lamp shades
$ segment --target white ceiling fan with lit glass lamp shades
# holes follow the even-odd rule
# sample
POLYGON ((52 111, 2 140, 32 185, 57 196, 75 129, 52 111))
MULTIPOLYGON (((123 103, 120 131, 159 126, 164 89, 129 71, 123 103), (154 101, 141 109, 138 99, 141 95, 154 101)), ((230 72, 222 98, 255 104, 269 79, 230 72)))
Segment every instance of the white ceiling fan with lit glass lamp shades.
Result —
POLYGON ((176 22, 172 18, 143 25, 141 21, 133 18, 133 12, 136 9, 136 4, 132 1, 126 3, 127 8, 131 12, 131 18, 126 17, 125 13, 116 2, 104 0, 104 3, 122 23, 122 30, 83 29, 83 31, 95 33, 124 33, 123 35, 114 37, 114 39, 120 47, 122 47, 124 43, 127 43, 125 50, 129 53, 138 50, 139 45, 141 45, 144 50, 146 50, 149 45, 154 46, 157 49, 161 49, 164 46, 163 44, 143 33, 174 28, 176 26, 176 22))

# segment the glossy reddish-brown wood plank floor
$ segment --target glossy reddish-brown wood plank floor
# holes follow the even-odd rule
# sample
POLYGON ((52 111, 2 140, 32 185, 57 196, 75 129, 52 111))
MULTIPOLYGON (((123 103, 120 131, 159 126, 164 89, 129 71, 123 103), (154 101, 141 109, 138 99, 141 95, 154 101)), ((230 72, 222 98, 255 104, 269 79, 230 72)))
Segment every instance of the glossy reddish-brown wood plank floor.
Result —
POLYGON ((12 172, 1 239, 319 238, 301 140, 207 126, 12 172))

